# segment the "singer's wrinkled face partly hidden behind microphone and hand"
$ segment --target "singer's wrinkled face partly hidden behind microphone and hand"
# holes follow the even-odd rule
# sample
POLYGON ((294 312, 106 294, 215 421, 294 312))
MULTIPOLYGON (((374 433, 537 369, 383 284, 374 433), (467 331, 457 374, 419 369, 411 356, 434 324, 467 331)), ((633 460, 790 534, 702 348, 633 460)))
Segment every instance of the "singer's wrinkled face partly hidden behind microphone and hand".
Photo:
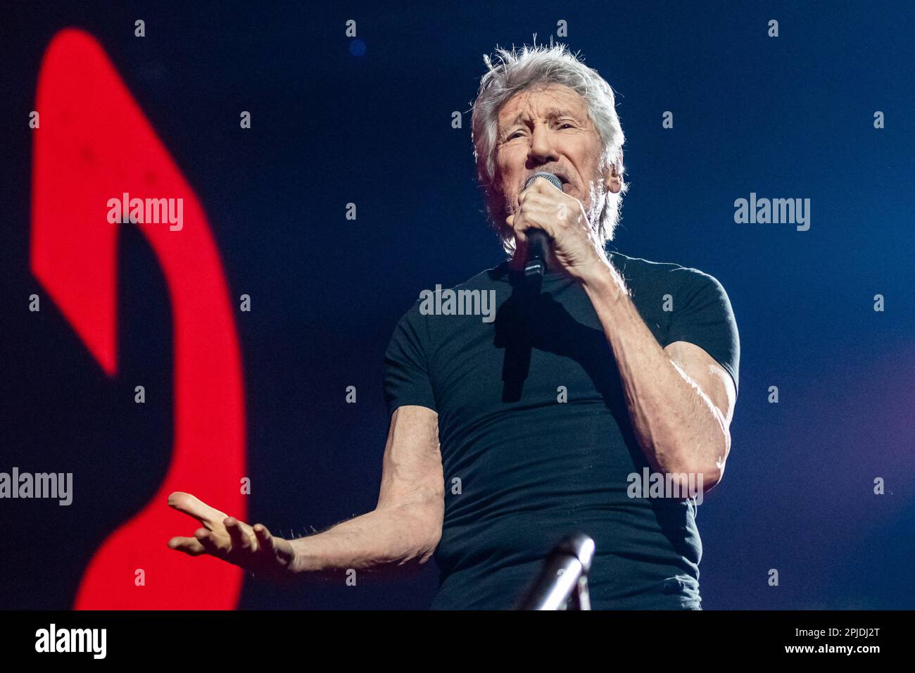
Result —
POLYGON ((587 103, 573 89, 549 84, 516 93, 499 111, 496 144, 496 182, 506 214, 517 211, 527 179, 546 171, 562 180, 566 194, 582 202, 589 219, 596 217, 607 183, 612 191, 620 186, 615 169, 599 173, 602 152, 587 103))

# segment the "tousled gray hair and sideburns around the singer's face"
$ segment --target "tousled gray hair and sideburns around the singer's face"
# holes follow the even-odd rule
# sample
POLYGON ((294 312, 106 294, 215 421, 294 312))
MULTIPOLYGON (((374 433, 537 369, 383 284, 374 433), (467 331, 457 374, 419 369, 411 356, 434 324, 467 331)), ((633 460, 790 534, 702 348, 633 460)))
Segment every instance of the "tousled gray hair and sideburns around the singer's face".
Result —
MULTIPOLYGON (((496 184, 495 147, 499 132, 499 111, 511 97, 538 85, 565 84, 575 90, 587 103, 587 113, 603 141, 604 151, 600 159, 600 170, 603 172, 615 166, 620 180, 623 176, 622 147, 626 138, 616 111, 616 98, 613 89, 597 71, 588 68, 576 54, 569 52, 564 44, 547 47, 524 45, 522 51, 514 47, 496 48, 499 63, 492 64, 490 56, 483 56, 488 72, 479 81, 477 100, 473 103, 471 117, 471 140, 473 157, 477 163, 477 178, 484 191, 486 212, 490 222, 501 238, 502 247, 509 255, 514 252, 514 234, 505 223, 505 216, 499 212, 501 186, 496 184)), ((601 244, 613 238, 613 231, 619 222, 619 209, 622 196, 629 190, 629 185, 622 181, 619 193, 607 191, 603 203, 597 204, 599 215, 597 222, 591 225, 596 228, 601 244)))

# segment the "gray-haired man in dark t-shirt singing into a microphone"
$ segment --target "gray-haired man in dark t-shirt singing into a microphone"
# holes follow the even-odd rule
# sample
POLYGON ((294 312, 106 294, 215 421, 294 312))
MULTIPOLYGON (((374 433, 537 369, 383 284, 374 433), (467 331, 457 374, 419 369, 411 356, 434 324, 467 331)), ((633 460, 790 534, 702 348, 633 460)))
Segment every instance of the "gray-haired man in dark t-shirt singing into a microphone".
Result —
POLYGON ((605 249, 627 185, 597 71, 561 45, 497 54, 473 143, 510 259, 455 288, 494 298, 495 319, 417 301, 398 322, 378 505, 286 540, 175 493, 168 504, 204 527, 170 548, 340 581, 434 556, 433 608, 508 609, 556 542, 585 533, 592 608, 701 609, 695 507, 724 473, 737 399, 730 301, 701 271, 605 249), (528 186, 538 172, 562 190, 528 186), (548 242, 534 290, 531 230, 548 242))

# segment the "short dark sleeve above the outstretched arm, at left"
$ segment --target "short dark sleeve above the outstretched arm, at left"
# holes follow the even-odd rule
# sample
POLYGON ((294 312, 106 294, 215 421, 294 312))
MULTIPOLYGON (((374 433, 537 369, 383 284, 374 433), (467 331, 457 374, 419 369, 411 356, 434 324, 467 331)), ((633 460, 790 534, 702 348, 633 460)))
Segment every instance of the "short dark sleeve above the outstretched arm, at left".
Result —
POLYGON ((397 322, 384 353, 384 402, 389 417, 405 405, 436 410, 426 358, 428 326, 417 307, 418 302, 397 322))

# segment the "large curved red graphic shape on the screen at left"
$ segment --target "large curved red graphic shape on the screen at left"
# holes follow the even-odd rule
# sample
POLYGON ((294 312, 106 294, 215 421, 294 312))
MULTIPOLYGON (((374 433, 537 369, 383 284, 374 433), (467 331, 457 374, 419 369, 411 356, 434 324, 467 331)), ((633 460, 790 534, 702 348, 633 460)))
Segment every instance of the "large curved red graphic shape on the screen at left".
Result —
MULTIPOLYGON (((190 536, 199 527, 167 506, 173 491, 188 491, 247 518, 240 494, 245 474, 241 354, 210 226, 194 191, 92 36, 68 28, 51 41, 35 109, 40 126, 32 136, 32 273, 105 373, 114 376, 117 235, 123 226, 139 227, 162 267, 174 325, 175 438, 165 481, 96 551, 74 607, 233 609, 242 588, 241 569, 167 548, 170 537, 190 536), (183 227, 108 223, 108 200, 121 199, 124 192, 131 199, 183 199, 183 227), (145 586, 135 585, 140 569, 145 586)), ((85 464, 90 469, 91 461, 85 464)), ((78 486, 76 493, 79 497, 78 486)))

